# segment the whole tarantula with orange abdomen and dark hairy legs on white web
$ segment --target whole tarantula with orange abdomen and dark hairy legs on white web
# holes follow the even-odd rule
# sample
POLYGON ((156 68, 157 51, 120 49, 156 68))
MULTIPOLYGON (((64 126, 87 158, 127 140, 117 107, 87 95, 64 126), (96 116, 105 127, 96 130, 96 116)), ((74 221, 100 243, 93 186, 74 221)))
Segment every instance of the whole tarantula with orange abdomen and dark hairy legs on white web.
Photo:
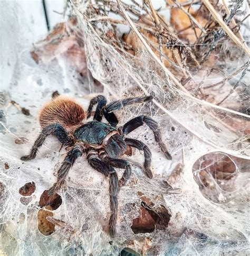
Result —
POLYGON ((137 129, 143 124, 147 124, 155 135, 155 140, 159 144, 161 151, 167 159, 171 156, 162 142, 159 126, 151 117, 140 115, 132 118, 123 126, 117 128, 118 119, 113 111, 121 109, 127 105, 144 103, 152 100, 151 96, 131 97, 127 99, 115 100, 108 104, 107 99, 98 95, 90 101, 88 111, 73 98, 62 95, 55 95, 40 112, 39 121, 42 131, 35 140, 30 154, 21 157, 21 160, 31 160, 36 157, 37 151, 43 145, 49 135, 54 135, 62 145, 66 146, 66 157, 57 171, 57 181, 49 189, 50 195, 55 194, 64 187, 65 179, 75 160, 86 155, 90 166, 109 177, 109 194, 111 216, 109 219, 109 233, 113 237, 116 235, 116 223, 118 217, 118 193, 121 186, 126 185, 131 176, 131 165, 129 161, 120 159, 124 154, 131 156, 131 147, 144 152, 144 172, 152 179, 151 152, 147 145, 139 140, 127 138, 127 134, 137 129), (94 111, 93 121, 87 121, 94 111), (108 121, 101 122, 102 117, 108 121), (124 169, 121 179, 118 179, 114 168, 124 169))

